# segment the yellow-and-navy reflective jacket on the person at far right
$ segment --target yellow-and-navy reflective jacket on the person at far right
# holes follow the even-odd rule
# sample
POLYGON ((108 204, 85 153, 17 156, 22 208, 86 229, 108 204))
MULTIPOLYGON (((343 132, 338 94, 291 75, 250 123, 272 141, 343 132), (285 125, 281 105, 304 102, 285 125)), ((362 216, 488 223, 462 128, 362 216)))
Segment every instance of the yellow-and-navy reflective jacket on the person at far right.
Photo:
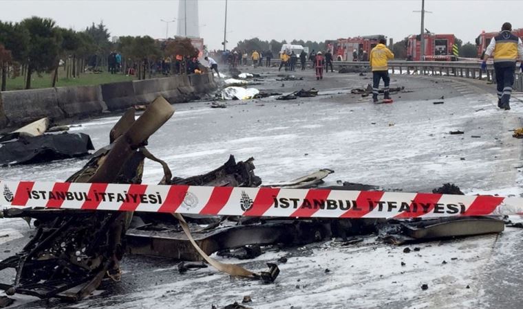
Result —
POLYGON ((521 38, 504 30, 492 38, 485 54, 493 55, 494 63, 498 65, 514 65, 518 54, 523 59, 523 43, 521 38))

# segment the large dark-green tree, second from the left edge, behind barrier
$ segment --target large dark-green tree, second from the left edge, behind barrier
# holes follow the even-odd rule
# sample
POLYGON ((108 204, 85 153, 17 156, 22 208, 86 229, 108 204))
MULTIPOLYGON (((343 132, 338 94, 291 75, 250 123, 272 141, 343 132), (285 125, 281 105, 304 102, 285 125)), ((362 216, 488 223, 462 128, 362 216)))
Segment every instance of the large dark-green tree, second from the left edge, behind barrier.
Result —
POLYGON ((30 36, 28 54, 24 63, 27 65, 25 89, 31 88, 33 72, 51 71, 56 66, 61 47, 61 33, 52 19, 33 16, 21 21, 30 36))

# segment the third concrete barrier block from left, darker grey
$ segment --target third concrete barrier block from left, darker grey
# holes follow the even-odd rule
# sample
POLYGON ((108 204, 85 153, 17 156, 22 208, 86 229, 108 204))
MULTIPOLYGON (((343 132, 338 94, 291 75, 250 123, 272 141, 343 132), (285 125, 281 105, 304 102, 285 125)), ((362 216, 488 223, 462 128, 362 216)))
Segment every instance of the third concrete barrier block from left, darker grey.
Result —
POLYGON ((121 111, 137 104, 133 82, 101 84, 100 88, 109 111, 121 111))

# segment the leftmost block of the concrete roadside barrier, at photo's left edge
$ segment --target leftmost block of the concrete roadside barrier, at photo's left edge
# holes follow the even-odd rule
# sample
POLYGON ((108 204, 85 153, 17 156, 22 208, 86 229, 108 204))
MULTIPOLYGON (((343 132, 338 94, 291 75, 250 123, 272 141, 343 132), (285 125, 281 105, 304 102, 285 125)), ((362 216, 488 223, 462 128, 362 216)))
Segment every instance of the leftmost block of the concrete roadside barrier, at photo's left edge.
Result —
POLYGON ((8 124, 28 124, 42 117, 63 119, 65 113, 58 106, 54 88, 3 91, 0 93, 8 124))

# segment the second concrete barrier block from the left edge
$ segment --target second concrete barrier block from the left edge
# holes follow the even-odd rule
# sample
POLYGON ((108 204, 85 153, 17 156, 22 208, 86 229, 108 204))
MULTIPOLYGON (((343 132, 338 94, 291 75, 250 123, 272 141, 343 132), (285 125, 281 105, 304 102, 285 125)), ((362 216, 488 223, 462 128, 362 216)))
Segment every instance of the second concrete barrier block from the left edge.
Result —
POLYGON ((65 117, 87 117, 107 110, 100 86, 58 87, 56 97, 65 117))

